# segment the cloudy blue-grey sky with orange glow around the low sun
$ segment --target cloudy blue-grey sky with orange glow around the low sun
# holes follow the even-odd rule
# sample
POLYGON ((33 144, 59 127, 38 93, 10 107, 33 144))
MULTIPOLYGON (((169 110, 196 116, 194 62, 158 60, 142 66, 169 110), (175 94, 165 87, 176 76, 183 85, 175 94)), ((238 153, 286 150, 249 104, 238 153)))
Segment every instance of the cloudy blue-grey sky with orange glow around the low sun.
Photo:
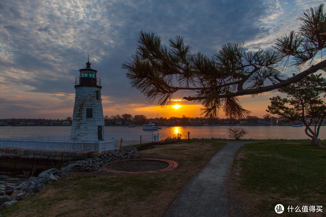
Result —
MULTIPOLYGON (((322 1, 261 0, 2 0, 0 1, 0 118, 72 116, 75 77, 85 67, 101 78, 104 115, 128 113, 200 116, 200 105, 181 102, 179 109, 149 103, 130 88, 122 63, 136 51, 140 31, 168 44, 185 36, 192 52, 207 56, 226 43, 269 48, 296 30, 297 17, 322 1)), ((241 97, 244 108, 261 117, 268 92, 241 97)), ((175 99, 182 99, 177 94, 175 99)), ((223 113, 220 113, 224 117, 223 113)))

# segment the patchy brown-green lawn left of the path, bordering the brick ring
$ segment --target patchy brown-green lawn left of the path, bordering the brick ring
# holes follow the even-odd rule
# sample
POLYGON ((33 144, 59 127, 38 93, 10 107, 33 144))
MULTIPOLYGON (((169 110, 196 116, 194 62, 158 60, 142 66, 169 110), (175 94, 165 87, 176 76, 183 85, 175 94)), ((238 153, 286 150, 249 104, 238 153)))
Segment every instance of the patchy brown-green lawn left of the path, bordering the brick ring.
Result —
POLYGON ((175 170, 148 174, 70 172, 40 193, 0 210, 15 217, 158 216, 225 143, 184 142, 140 151, 143 158, 176 161, 175 170))

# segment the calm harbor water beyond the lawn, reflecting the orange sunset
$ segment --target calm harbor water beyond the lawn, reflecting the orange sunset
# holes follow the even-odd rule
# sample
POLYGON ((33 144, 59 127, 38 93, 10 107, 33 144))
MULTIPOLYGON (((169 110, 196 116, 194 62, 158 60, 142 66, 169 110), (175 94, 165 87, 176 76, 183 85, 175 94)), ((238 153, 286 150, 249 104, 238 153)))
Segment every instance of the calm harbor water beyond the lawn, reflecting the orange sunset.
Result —
MULTIPOLYGON (((159 133, 160 140, 167 137, 181 134, 182 138, 226 138, 227 129, 230 126, 182 126, 182 127, 162 127, 159 130, 142 130, 141 126, 130 128, 127 126, 105 127, 105 133, 132 133, 151 134, 159 133)), ((249 131, 245 139, 309 139, 304 133, 304 127, 291 126, 244 126, 249 131)), ((16 136, 39 136, 39 135, 65 135, 70 134, 71 127, 51 126, 51 127, 0 127, 1 137, 16 136)), ((326 126, 320 127, 319 138, 326 139, 326 126)))

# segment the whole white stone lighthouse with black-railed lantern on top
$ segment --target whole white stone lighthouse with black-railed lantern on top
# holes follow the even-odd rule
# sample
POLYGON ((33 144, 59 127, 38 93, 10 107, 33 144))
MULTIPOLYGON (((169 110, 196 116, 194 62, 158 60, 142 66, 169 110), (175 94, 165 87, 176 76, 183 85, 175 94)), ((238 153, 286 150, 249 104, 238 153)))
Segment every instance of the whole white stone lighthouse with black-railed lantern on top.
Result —
POLYGON ((96 78, 97 71, 91 69, 89 59, 79 72, 70 139, 105 140, 101 79, 96 78))

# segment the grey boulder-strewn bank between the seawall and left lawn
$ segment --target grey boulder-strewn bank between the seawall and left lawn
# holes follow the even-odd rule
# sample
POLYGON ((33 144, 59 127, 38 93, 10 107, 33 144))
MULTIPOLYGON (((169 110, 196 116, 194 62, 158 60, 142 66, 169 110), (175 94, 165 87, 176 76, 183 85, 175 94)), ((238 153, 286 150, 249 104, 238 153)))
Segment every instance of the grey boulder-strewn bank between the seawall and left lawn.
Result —
POLYGON ((17 184, 16 186, 6 185, 5 191, 0 191, 0 209, 9 207, 28 196, 35 195, 45 184, 57 181, 69 171, 101 172, 103 170, 100 169, 100 167, 105 163, 116 160, 140 158, 134 155, 135 153, 137 153, 136 148, 111 150, 94 158, 67 162, 60 170, 52 168, 42 171, 37 177, 29 177, 27 181, 17 184))

